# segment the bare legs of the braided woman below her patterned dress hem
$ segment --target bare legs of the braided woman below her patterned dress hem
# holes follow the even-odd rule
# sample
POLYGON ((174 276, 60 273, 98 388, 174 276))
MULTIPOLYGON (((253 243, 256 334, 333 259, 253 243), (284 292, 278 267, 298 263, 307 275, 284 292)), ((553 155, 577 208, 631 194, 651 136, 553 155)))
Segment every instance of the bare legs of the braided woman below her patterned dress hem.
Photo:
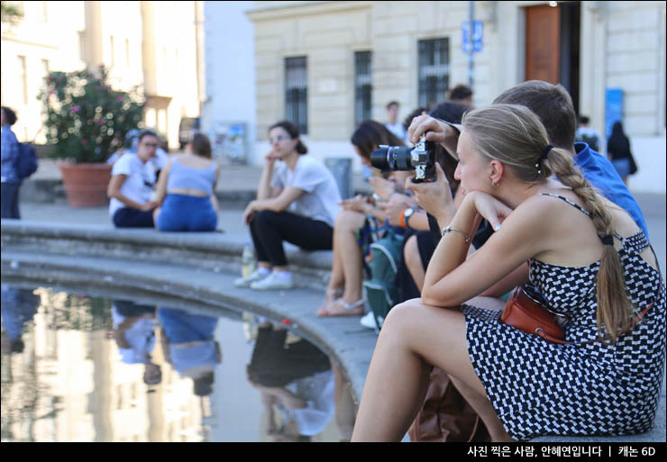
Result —
POLYGON ((399 441, 424 402, 429 365, 442 368, 472 397, 491 438, 507 440, 468 355, 463 314, 410 300, 394 307, 370 361, 352 441, 399 441), (478 399, 477 394, 483 399, 478 399))

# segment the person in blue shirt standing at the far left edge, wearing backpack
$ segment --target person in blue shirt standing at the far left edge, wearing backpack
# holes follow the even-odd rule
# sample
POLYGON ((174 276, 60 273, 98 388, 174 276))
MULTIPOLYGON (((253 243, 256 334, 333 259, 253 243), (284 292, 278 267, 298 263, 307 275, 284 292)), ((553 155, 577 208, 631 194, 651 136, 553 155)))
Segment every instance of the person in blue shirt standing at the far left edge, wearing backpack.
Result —
POLYGON ((19 141, 12 131, 16 113, 2 106, 2 218, 21 218, 19 213, 19 187, 21 180, 16 170, 16 159, 20 155, 19 141))

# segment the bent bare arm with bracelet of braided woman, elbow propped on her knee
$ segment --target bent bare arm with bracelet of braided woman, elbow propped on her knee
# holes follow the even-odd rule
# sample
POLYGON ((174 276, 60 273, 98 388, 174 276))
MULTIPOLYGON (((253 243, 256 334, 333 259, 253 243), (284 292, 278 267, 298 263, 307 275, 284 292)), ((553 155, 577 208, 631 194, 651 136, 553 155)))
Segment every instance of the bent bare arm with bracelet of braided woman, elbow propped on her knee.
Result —
POLYGON ((422 301, 434 306, 458 306, 548 249, 549 223, 555 218, 547 208, 522 204, 511 212, 490 195, 466 195, 449 223, 463 232, 449 231, 440 240, 426 270, 422 301), (502 227, 466 259, 482 216, 490 223, 502 222, 502 227), (464 241, 463 233, 470 237, 469 242, 464 241), (539 239, 535 239, 536 236, 539 239))

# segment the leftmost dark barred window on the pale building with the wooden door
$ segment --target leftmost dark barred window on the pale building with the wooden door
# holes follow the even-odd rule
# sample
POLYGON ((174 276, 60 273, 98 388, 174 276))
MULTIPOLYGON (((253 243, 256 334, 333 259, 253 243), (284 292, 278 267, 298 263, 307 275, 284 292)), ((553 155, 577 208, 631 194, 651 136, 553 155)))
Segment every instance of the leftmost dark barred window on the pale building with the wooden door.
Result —
POLYGON ((301 134, 308 132, 306 57, 285 59, 285 118, 301 134))

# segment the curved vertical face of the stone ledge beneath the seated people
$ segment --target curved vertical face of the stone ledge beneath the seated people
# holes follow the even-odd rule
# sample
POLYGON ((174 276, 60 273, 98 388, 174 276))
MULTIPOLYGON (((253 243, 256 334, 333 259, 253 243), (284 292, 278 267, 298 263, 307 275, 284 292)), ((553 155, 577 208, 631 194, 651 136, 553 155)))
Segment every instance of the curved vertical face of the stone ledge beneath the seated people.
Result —
MULTIPOLYGON (((173 263, 240 272, 244 240, 220 232, 160 232, 111 225, 2 220, 3 248, 66 256, 173 263)), ((333 263, 330 250, 305 251, 285 244, 297 285, 324 290, 333 263)))

